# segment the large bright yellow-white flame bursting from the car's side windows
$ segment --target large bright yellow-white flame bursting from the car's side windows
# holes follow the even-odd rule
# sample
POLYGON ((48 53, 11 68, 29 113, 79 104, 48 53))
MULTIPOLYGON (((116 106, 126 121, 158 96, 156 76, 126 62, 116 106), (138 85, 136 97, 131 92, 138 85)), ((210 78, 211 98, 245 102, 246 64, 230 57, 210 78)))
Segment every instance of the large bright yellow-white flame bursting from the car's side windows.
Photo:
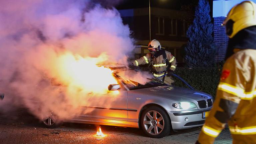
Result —
POLYGON ((57 58, 57 78, 70 87, 77 87, 83 92, 107 93, 108 85, 117 84, 112 71, 97 66, 107 60, 105 54, 97 58, 65 53, 57 58))

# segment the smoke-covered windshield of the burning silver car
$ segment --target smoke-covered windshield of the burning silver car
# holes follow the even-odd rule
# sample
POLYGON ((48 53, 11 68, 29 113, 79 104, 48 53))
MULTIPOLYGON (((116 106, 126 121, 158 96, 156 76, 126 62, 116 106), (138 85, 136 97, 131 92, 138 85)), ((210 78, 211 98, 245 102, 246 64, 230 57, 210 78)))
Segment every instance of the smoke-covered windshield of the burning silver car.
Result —
POLYGON ((148 72, 123 69, 115 74, 130 90, 166 85, 148 72))

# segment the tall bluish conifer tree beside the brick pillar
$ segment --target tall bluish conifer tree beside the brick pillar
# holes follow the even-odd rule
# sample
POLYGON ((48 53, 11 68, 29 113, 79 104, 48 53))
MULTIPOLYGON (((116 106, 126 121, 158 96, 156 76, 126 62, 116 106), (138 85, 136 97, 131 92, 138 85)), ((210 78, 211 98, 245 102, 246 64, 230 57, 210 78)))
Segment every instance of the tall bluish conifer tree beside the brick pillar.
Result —
POLYGON ((199 0, 195 18, 187 30, 188 43, 185 47, 185 61, 188 67, 211 67, 215 62, 213 44, 213 23, 207 0, 199 0))

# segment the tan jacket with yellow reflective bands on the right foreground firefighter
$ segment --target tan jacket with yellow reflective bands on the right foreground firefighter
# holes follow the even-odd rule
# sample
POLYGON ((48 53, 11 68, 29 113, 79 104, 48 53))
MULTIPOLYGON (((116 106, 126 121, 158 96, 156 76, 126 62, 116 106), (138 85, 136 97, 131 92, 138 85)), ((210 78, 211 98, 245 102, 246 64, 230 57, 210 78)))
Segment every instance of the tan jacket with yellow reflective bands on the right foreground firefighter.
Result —
POLYGON ((234 144, 256 144, 256 50, 240 50, 227 59, 216 100, 198 138, 212 144, 228 123, 234 144))

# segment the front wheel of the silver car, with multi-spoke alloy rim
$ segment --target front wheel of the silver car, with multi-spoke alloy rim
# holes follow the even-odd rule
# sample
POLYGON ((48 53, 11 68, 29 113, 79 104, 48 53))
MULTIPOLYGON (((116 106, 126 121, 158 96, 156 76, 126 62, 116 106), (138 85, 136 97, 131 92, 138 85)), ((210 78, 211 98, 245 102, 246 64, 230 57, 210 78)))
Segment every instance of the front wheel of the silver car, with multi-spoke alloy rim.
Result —
POLYGON ((160 107, 152 106, 144 110, 140 123, 143 132, 149 137, 162 138, 170 134, 170 119, 160 107))

